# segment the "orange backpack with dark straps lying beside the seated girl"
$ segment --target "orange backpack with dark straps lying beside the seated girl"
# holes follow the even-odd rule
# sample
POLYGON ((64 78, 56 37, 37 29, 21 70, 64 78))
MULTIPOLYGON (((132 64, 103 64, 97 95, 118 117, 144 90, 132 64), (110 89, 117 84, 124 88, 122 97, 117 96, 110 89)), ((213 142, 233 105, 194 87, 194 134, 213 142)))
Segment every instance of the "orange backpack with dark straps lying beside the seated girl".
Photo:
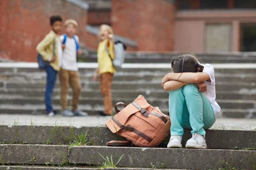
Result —
MULTIPOLYGON (((156 147, 170 134, 169 116, 158 107, 152 107, 142 95, 128 106, 123 102, 116 103, 115 110, 117 114, 105 122, 106 126, 136 146, 156 147), (120 104, 124 106, 121 111, 117 109, 120 104)), ((117 146, 113 144, 118 142, 122 143, 110 141, 109 146, 117 146)))

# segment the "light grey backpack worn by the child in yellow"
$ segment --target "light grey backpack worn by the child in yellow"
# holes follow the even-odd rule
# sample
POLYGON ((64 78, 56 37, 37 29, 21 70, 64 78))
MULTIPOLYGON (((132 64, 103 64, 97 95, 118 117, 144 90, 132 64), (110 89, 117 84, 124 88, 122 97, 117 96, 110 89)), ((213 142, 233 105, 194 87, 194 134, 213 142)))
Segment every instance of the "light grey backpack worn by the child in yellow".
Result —
POLYGON ((105 45, 105 50, 107 51, 107 54, 109 55, 113 66, 116 69, 121 68, 124 59, 125 59, 125 50, 126 50, 126 45, 124 45, 121 41, 116 41, 114 45, 114 53, 115 53, 115 59, 111 58, 111 55, 109 53, 109 50, 107 49, 107 45, 105 45))

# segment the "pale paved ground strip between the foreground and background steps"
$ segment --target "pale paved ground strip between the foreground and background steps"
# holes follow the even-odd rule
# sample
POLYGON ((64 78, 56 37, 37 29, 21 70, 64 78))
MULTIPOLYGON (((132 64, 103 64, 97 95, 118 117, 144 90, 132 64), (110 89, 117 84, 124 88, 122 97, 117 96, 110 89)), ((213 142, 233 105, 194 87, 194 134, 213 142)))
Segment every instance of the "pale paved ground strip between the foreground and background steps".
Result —
MULTIPOLYGON (((54 125, 63 126, 104 126, 104 122, 111 117, 48 117, 46 115, 14 115, 0 114, 0 125, 54 125)), ((256 130, 256 119, 219 118, 212 128, 232 130, 256 130)))

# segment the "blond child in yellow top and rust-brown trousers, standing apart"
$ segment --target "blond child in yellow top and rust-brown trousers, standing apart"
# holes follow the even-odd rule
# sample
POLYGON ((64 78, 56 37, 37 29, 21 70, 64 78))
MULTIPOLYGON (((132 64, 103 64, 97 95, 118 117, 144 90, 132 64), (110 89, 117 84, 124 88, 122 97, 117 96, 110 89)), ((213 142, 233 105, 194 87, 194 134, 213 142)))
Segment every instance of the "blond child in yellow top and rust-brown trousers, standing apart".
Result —
POLYGON ((112 114, 112 96, 111 96, 111 84, 112 77, 115 73, 115 67, 112 64, 111 58, 115 58, 114 54, 114 40, 113 30, 109 25, 101 25, 99 29, 99 40, 97 58, 98 68, 94 74, 94 80, 97 81, 98 75, 100 75, 100 92, 103 95, 104 112, 100 112, 101 116, 112 114), (106 51, 109 50, 110 56, 106 51))

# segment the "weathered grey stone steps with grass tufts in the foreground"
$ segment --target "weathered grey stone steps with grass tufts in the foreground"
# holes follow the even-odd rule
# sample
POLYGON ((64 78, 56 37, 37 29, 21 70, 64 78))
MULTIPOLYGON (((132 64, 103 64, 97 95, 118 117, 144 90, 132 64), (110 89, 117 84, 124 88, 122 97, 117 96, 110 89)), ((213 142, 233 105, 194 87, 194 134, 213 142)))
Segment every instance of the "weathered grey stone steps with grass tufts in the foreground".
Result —
MULTIPOLYGON (((190 137, 185 130, 182 144, 190 137)), ((105 146, 110 140, 124 138, 104 126, 0 125, 0 170, 99 169, 99 153, 114 163, 124 154, 117 169, 256 169, 256 131, 206 130, 208 149, 167 149, 168 139, 155 148, 105 146), (70 145, 86 133, 87 145, 70 145)))

